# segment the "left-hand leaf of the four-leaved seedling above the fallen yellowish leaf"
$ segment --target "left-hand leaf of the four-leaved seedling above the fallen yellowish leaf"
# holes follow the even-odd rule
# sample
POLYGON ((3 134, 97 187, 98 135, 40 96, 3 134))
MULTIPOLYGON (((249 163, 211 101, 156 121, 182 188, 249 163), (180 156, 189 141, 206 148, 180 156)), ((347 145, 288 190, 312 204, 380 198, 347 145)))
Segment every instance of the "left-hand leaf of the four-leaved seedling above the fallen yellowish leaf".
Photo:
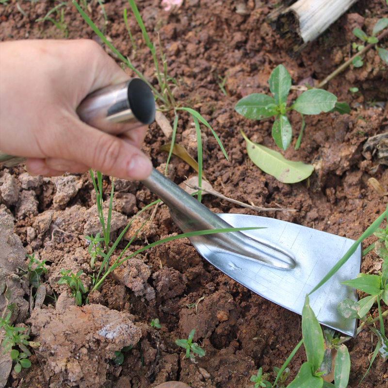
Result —
POLYGON ((268 109, 268 105, 275 104, 275 99, 266 94, 254 93, 243 97, 234 107, 235 111, 246 118, 261 120, 275 116, 274 107, 268 109))

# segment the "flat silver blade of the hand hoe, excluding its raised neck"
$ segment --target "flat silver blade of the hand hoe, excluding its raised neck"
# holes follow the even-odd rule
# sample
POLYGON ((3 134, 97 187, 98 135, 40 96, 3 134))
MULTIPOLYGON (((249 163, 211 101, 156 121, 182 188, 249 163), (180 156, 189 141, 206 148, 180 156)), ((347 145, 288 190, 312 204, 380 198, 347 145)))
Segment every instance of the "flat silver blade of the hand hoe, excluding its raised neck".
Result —
MULTIPOLYGON (((292 270, 277 269, 258 260, 214 249, 193 238, 197 251, 220 271, 262 297, 302 314, 305 297, 343 257, 354 241, 334 234, 273 218, 244 214, 217 214, 233 227, 259 226, 265 229, 243 231, 245 235, 289 252, 296 261, 292 270)), ((360 272, 362 247, 320 289, 309 295, 318 321, 346 335, 355 336, 356 320, 343 318, 339 302, 357 302, 356 290, 340 284, 360 272)))

